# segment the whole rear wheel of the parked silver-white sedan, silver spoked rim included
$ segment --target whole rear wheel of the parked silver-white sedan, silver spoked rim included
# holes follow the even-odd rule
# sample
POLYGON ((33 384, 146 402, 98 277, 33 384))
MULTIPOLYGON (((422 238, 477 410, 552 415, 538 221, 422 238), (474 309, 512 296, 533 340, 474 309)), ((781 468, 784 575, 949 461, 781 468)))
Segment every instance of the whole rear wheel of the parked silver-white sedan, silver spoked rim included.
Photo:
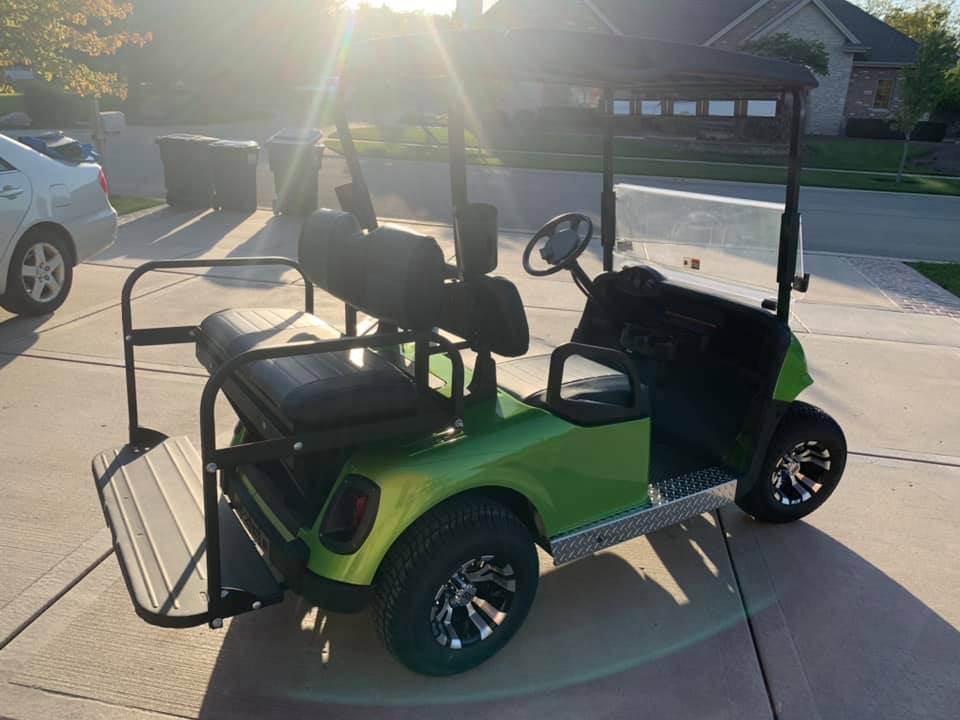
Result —
POLYGON ((69 243, 55 233, 31 231, 20 238, 10 258, 0 304, 17 315, 47 315, 63 305, 72 284, 69 243))

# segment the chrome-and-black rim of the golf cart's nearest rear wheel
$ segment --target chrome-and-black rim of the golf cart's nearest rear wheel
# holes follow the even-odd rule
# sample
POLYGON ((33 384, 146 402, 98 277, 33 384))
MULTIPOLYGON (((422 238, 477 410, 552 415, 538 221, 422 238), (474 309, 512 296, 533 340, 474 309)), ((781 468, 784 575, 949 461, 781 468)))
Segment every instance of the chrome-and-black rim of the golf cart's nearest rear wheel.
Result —
POLYGON ((509 563, 494 555, 465 562, 434 597, 430 608, 434 639, 450 650, 483 642, 507 619, 516 591, 509 563))

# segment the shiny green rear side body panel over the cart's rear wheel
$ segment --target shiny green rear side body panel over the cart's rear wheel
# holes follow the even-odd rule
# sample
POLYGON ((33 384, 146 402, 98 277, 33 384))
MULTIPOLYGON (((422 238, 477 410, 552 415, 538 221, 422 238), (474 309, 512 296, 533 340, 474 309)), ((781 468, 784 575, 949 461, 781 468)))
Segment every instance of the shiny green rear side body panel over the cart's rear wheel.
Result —
POLYGON ((358 450, 342 477, 364 475, 380 487, 373 530, 356 553, 337 555, 320 543, 318 518, 300 533, 310 547, 307 567, 334 580, 371 583, 411 523, 443 500, 482 487, 526 497, 551 537, 644 503, 649 457, 649 419, 579 427, 500 393, 468 407, 463 432, 358 450))

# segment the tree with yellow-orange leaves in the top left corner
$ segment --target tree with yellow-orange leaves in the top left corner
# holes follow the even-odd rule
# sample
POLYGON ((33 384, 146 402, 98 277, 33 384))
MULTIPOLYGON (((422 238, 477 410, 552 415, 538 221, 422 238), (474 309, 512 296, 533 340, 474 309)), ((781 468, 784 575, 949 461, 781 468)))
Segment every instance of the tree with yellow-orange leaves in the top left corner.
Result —
POLYGON ((0 0, 0 70, 24 66, 79 95, 124 97, 125 82, 96 59, 150 40, 114 26, 132 9, 114 0, 0 0))

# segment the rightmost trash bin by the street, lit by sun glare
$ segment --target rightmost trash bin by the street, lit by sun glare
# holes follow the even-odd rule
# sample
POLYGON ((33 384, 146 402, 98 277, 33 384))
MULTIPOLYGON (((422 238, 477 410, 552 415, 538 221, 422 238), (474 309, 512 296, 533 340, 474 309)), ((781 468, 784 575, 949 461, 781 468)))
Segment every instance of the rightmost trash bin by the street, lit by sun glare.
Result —
POLYGON ((274 214, 309 215, 317 209, 317 173, 324 145, 319 130, 284 129, 267 140, 276 198, 274 214))

